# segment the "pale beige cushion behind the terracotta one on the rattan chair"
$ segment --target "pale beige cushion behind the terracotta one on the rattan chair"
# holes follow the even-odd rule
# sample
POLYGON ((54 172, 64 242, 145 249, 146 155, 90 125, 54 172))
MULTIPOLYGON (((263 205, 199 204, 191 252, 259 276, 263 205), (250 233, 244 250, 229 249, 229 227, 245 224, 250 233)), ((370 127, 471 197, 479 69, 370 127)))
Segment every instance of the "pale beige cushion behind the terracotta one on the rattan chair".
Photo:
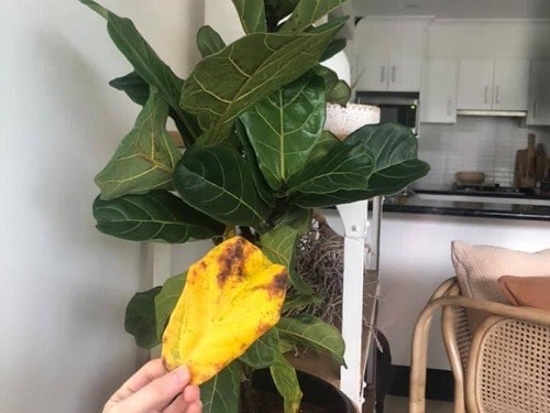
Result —
MULTIPOLYGON (((550 274, 550 249, 522 252, 502 247, 472 246, 453 241, 451 257, 464 296, 509 303, 498 285, 503 275, 543 276, 550 274)), ((468 312, 472 329, 484 319, 479 312, 468 312)))

